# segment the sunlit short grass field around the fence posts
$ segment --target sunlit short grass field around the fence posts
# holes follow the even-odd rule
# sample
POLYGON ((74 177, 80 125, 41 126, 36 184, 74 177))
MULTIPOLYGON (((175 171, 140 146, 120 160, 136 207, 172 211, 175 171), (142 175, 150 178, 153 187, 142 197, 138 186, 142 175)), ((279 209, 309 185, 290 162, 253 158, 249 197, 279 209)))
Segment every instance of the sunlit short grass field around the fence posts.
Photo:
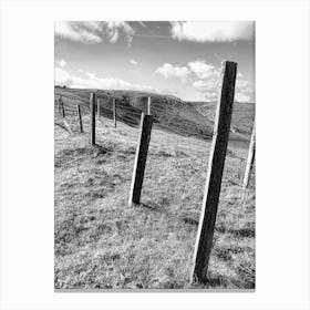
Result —
POLYGON ((63 100, 74 135, 63 127, 55 108, 55 289, 255 288, 255 170, 246 204, 239 199, 248 142, 229 143, 209 283, 189 286, 211 120, 202 128, 202 114, 197 126, 193 125, 198 111, 194 105, 192 116, 187 114, 186 120, 183 108, 174 115, 175 123, 158 114, 162 118, 155 120, 152 132, 142 202, 128 207, 138 106, 128 104, 127 114, 118 110, 117 128, 110 120, 111 111, 103 108, 97 146, 90 147, 87 107, 83 106, 83 134, 74 108, 78 101, 85 103, 89 93, 55 89, 55 95, 60 93, 71 96, 63 100), (179 120, 186 125, 178 125, 179 120))

